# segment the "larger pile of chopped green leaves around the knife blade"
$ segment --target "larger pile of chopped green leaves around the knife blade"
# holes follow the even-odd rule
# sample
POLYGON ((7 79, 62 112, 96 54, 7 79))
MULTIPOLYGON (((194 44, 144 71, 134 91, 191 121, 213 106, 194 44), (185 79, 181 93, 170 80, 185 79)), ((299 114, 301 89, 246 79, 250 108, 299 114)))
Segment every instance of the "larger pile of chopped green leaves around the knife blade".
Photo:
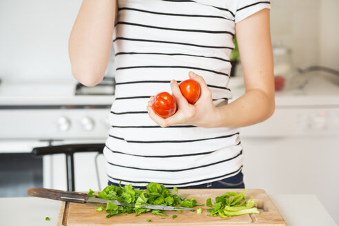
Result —
MULTIPOLYGON (((134 207, 118 206, 112 202, 108 202, 106 207, 96 207, 96 211, 101 212, 103 209, 108 213, 106 218, 117 214, 131 214, 136 213, 136 216, 151 212, 154 215, 167 216, 163 214, 163 210, 160 209, 147 209, 141 208, 141 205, 166 205, 175 206, 181 205, 182 207, 194 207, 199 205, 194 198, 185 200, 186 195, 178 196, 178 189, 174 187, 172 190, 167 189, 164 185, 159 183, 149 183, 146 185, 145 191, 136 189, 132 185, 118 186, 109 185, 105 187, 98 195, 94 194, 94 191, 90 189, 88 192, 89 197, 103 198, 107 200, 116 200, 126 203, 134 204, 134 207)), ((194 210, 193 210, 194 211, 194 210)), ((180 211, 179 211, 180 212, 180 211)))

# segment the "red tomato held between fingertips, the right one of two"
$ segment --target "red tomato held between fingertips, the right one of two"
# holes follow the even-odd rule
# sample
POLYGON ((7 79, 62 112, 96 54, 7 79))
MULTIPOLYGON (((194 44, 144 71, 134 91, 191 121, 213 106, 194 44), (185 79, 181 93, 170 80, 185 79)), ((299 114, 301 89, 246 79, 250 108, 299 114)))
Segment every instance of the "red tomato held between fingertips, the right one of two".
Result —
POLYGON ((185 96, 185 99, 187 99, 188 103, 194 104, 196 101, 198 101, 201 88, 197 81, 193 79, 187 79, 179 84, 179 88, 183 96, 185 96))

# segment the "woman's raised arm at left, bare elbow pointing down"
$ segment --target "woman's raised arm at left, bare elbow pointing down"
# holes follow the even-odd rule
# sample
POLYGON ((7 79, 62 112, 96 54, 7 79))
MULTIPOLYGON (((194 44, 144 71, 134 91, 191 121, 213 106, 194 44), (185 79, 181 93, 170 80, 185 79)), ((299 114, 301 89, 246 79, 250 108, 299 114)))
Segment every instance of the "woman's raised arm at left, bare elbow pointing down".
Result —
POLYGON ((110 60, 116 0, 83 0, 69 40, 73 76, 83 85, 101 82, 110 60))

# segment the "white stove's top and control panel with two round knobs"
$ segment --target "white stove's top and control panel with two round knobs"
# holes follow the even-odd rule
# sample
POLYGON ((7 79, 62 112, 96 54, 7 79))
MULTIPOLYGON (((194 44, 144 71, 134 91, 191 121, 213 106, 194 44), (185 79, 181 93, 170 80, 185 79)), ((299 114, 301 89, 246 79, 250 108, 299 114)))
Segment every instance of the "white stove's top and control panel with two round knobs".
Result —
POLYGON ((3 82, 0 85, 0 125, 3 128, 0 141, 36 143, 88 138, 102 141, 110 127, 108 115, 114 101, 112 84, 105 80, 91 89, 65 82, 3 82))

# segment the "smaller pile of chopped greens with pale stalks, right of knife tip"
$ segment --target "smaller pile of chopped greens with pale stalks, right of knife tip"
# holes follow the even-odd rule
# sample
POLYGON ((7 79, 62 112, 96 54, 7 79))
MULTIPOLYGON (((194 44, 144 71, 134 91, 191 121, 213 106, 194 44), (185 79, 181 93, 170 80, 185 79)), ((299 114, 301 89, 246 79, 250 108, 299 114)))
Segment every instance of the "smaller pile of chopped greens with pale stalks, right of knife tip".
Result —
POLYGON ((244 196, 245 192, 247 192, 247 189, 240 194, 226 192, 225 194, 216 197, 216 203, 214 203, 214 205, 212 205, 211 198, 207 199, 207 207, 212 208, 207 209, 210 213, 207 216, 220 216, 221 218, 226 218, 243 214, 260 214, 255 207, 256 203, 254 201, 246 201, 246 198, 253 197, 244 196))

